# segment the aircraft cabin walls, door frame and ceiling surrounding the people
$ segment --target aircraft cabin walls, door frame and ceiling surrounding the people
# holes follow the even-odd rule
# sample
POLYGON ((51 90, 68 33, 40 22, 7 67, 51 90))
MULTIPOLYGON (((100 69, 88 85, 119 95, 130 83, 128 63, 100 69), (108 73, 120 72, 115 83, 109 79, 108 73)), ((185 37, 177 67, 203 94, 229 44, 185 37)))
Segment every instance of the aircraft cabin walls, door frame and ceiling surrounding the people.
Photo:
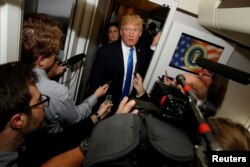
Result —
MULTIPOLYGON (((158 76, 188 73, 171 66, 181 35, 205 41, 222 51, 218 63, 250 73, 250 2, 248 0, 0 0, 0 63, 20 60, 22 18, 25 13, 46 13, 58 20, 66 39, 59 58, 79 53, 86 58, 70 67, 58 82, 80 103, 86 96, 90 70, 102 40, 104 26, 121 16, 137 13, 162 31, 144 86, 148 92, 158 76)), ((228 73, 231 71, 228 70, 228 73)), ((233 74, 232 74, 233 75, 233 74)), ((228 74, 230 77, 231 75, 228 74)), ((246 75, 247 76, 247 75, 246 75)), ((241 122, 250 130, 250 87, 229 78, 217 115, 241 122)))

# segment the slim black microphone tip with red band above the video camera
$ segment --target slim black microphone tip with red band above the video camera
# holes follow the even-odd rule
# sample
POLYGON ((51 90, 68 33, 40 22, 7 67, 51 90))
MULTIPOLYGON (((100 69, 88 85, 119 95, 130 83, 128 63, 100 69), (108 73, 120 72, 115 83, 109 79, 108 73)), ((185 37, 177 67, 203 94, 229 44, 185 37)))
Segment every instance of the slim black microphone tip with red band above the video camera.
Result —
POLYGON ((186 79, 182 74, 176 76, 177 84, 182 86, 184 93, 190 96, 193 100, 198 100, 197 96, 194 94, 192 88, 186 83, 186 79))

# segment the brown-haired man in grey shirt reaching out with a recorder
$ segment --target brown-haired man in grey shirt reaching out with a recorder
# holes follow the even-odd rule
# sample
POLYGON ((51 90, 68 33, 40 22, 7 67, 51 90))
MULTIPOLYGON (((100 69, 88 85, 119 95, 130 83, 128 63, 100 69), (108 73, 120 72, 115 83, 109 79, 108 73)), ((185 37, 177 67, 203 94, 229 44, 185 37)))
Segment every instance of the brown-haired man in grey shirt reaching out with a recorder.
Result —
POLYGON ((83 102, 75 105, 68 88, 50 79, 64 70, 64 67, 58 67, 56 58, 63 37, 61 25, 50 16, 38 13, 25 16, 22 30, 22 60, 34 66, 33 70, 39 77, 39 91, 50 96, 50 106, 45 109, 44 126, 48 133, 62 132, 86 119, 92 113, 98 98, 106 94, 109 88, 108 84, 103 84, 83 102), (52 73, 47 74, 48 70, 52 70, 52 73))

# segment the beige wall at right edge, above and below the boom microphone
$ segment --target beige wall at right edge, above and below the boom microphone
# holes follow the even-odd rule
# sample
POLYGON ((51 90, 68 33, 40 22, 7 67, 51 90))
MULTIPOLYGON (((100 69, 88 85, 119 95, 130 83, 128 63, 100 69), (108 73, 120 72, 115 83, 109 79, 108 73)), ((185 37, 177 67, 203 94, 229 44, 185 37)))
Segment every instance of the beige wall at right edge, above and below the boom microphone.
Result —
MULTIPOLYGON (((231 55, 228 66, 250 73, 250 49, 236 47, 231 55)), ((232 118, 250 126, 250 86, 230 80, 226 97, 221 106, 218 116, 232 118)))

